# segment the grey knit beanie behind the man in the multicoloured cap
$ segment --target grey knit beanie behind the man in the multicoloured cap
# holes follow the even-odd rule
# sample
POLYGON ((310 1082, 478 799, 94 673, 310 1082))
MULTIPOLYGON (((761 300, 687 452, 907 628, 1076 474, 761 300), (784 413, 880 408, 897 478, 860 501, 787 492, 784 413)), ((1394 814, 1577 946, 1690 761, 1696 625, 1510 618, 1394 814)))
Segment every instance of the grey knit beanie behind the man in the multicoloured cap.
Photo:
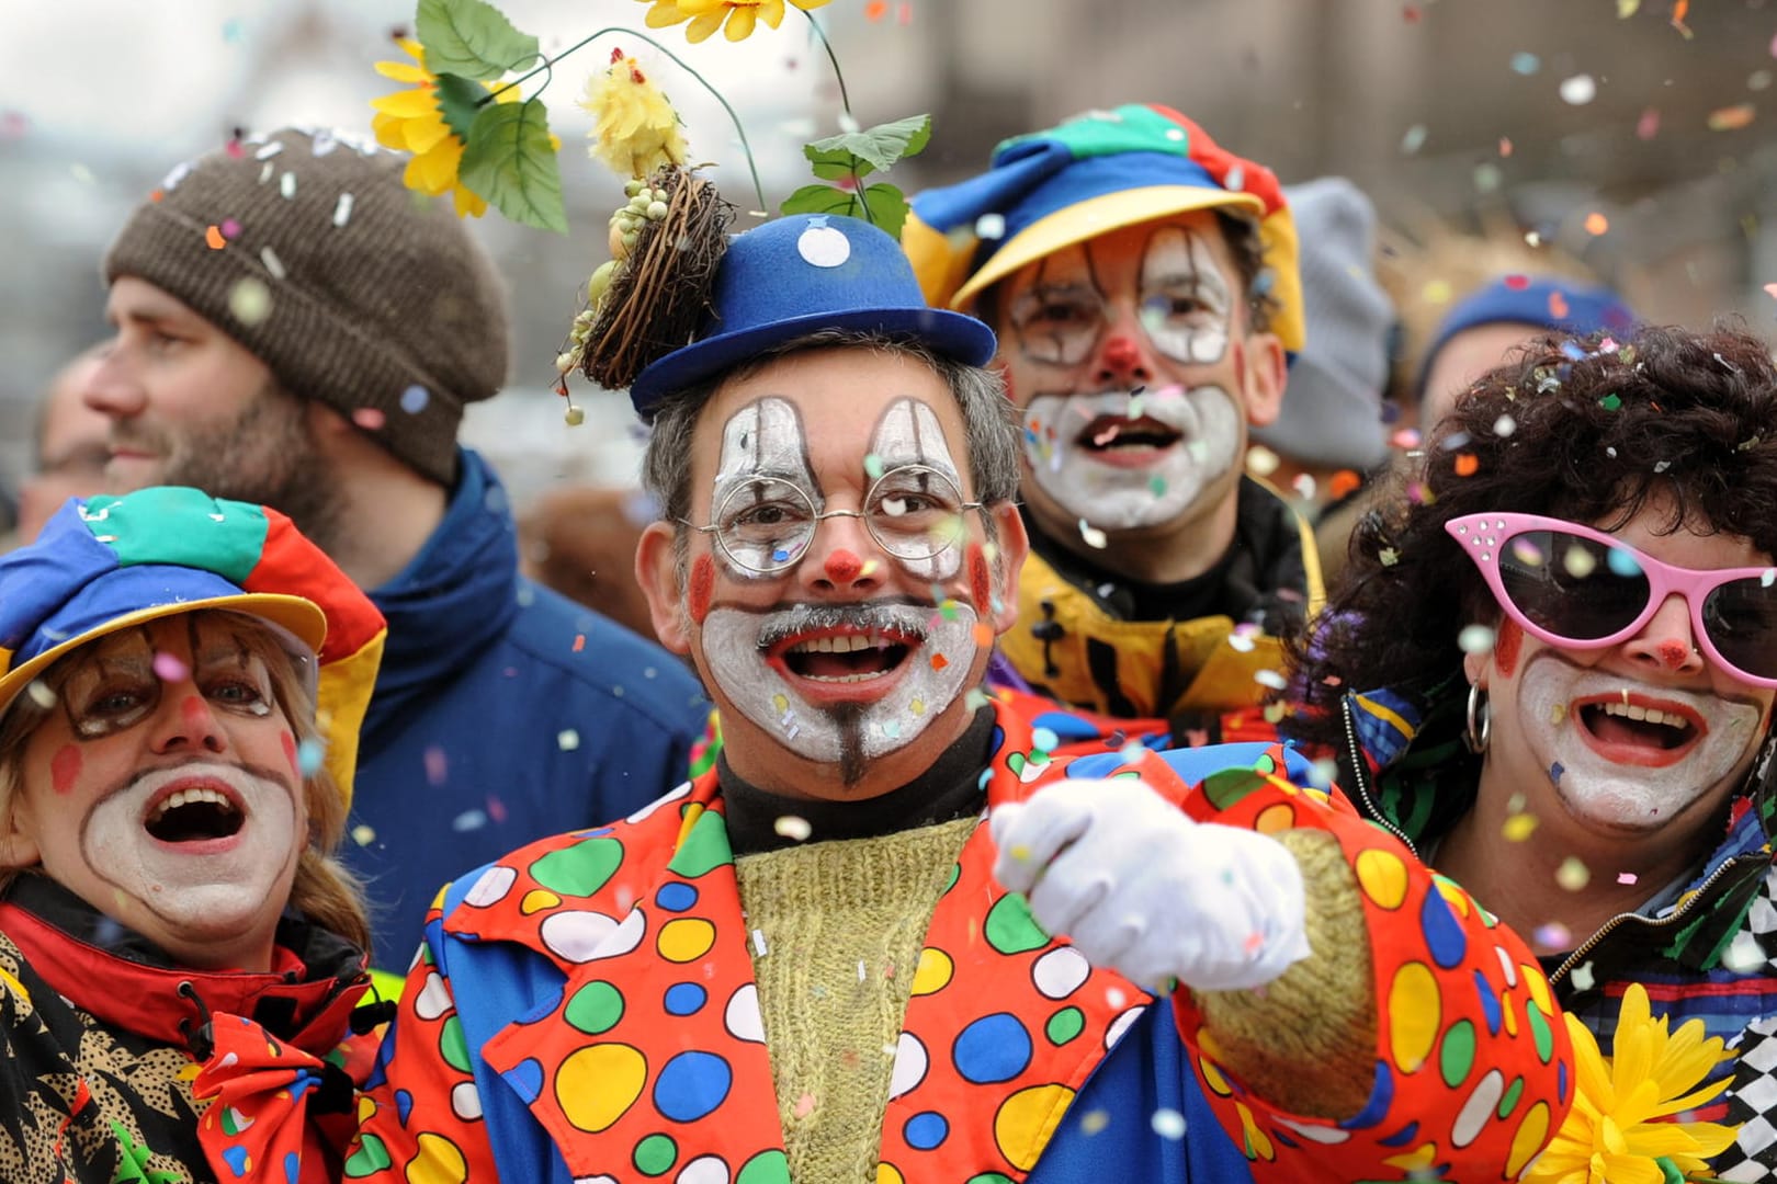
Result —
POLYGON ((1308 344, 1290 364, 1283 412, 1253 440, 1326 469, 1375 467, 1388 454, 1383 387, 1395 309, 1375 282, 1375 208, 1345 178, 1285 186, 1301 241, 1308 344))

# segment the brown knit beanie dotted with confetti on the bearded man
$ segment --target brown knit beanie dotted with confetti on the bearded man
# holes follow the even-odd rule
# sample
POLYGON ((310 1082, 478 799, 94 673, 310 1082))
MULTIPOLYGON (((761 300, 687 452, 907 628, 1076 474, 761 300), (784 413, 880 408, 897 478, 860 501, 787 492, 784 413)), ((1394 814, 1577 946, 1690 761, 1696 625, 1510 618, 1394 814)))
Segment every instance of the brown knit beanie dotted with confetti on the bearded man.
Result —
POLYGON ((457 479, 464 403, 506 380, 506 309, 450 202, 405 160, 281 130, 179 165, 130 217, 105 279, 162 288, 421 474, 457 479))

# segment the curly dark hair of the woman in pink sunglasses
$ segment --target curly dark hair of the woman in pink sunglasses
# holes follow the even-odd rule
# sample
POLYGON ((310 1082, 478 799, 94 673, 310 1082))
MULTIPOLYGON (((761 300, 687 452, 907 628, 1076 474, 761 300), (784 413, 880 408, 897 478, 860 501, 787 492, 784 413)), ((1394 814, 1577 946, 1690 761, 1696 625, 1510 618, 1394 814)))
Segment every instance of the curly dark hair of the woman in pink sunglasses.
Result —
POLYGON ((1461 676, 1457 635, 1500 609, 1445 522, 1541 513, 1617 529, 1670 495, 1690 525, 1777 554, 1777 367, 1743 323, 1546 335, 1477 378, 1351 538, 1351 566, 1290 641, 1292 735, 1338 742, 1347 691, 1461 676))

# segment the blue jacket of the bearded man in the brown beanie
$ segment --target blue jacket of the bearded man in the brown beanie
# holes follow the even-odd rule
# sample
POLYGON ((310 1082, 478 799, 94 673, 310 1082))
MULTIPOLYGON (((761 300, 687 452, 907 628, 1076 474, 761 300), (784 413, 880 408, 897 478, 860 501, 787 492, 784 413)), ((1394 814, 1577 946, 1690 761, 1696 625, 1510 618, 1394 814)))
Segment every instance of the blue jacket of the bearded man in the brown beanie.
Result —
POLYGON ((673 655, 519 575, 506 492, 458 449, 444 520, 371 591, 389 620, 343 845, 400 971, 464 866, 686 779, 709 706, 673 655))

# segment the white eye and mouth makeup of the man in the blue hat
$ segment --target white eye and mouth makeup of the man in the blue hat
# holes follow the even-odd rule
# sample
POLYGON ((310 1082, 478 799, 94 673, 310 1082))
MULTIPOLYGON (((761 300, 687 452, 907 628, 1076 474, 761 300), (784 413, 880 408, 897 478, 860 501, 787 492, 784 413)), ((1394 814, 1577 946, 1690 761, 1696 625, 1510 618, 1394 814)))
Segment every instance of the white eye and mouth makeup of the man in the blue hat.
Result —
MULTIPOLYGON (((729 419, 721 438, 713 506, 721 506, 734 490, 750 495, 761 478, 769 476, 803 488, 817 511, 825 508, 793 403, 777 398, 750 403, 729 419)), ((919 399, 888 405, 864 465, 855 483, 865 492, 874 488, 869 504, 881 515, 912 518, 924 502, 940 499, 960 504, 961 478, 944 428, 919 399)), ((945 515, 945 529, 956 534, 935 556, 904 559, 878 545, 874 556, 853 561, 894 564, 919 588, 952 580, 967 550, 963 513, 945 515)), ((899 525, 880 524, 878 531, 887 536, 899 525)), ((796 547, 807 550, 809 543, 796 547)), ((720 547, 716 550, 720 556, 720 547)), ((762 559, 764 549, 746 557, 762 559)), ((725 563, 725 570, 748 582, 787 582, 803 563, 828 563, 819 547, 816 554, 789 559, 789 566, 768 575, 739 570, 734 563, 725 563)), ((881 573, 881 586, 894 584, 892 573, 881 573)), ((901 586, 906 584, 903 579, 901 586)), ((785 588, 785 593, 794 595, 794 589, 785 588)), ((931 596, 780 600, 768 607, 714 604, 702 620, 702 657, 721 696, 741 715, 798 756, 837 763, 849 785, 869 760, 919 737, 956 701, 970 676, 977 605, 961 589, 938 589, 931 596)))

